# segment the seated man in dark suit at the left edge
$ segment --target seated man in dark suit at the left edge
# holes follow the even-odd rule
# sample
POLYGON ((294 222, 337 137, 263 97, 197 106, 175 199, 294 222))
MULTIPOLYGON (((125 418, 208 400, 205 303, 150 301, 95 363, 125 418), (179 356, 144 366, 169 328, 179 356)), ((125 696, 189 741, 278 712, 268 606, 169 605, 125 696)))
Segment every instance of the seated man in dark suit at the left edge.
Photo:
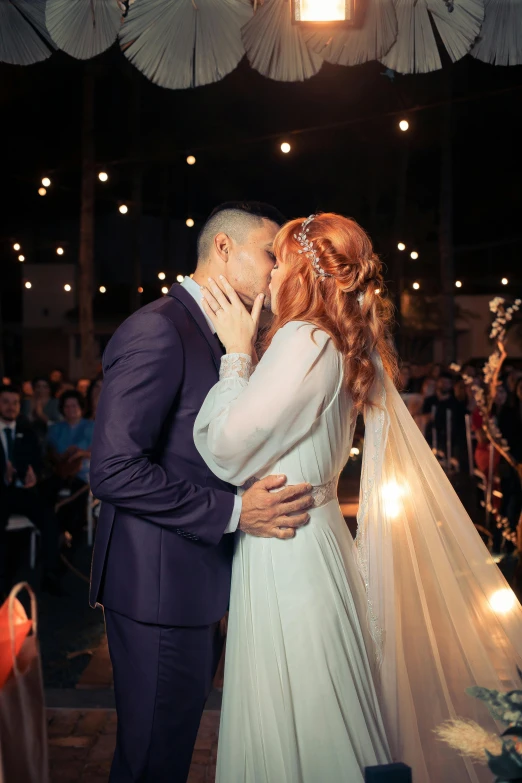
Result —
POLYGON ((6 527, 13 514, 25 516, 42 539, 42 588, 59 594, 59 529, 51 507, 37 489, 42 469, 38 438, 20 419, 21 395, 0 386, 0 591, 7 589, 6 527), (3 584, 2 584, 3 581, 3 584))

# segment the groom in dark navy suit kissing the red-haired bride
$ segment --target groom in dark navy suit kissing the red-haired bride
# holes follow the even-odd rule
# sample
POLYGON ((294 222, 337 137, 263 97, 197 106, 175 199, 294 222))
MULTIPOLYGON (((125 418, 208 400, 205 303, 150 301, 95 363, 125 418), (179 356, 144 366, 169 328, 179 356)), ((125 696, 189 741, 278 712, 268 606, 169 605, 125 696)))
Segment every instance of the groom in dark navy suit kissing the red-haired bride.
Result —
POLYGON ((114 669, 112 783, 185 783, 222 648, 233 533, 288 538, 308 520, 309 485, 281 489, 285 477, 270 476, 240 498, 192 437, 223 353, 199 286, 224 274, 247 306, 268 294, 282 222, 266 204, 218 207, 201 232, 194 279, 134 313, 105 351, 90 603, 105 608, 114 669))

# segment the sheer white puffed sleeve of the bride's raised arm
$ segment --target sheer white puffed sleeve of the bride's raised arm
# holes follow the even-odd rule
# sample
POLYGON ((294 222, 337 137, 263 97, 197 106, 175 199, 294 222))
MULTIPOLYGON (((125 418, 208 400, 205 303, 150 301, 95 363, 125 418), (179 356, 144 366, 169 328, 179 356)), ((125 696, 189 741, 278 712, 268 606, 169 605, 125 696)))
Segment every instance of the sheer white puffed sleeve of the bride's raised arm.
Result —
POLYGON ((273 465, 306 435, 339 384, 339 358, 330 337, 309 323, 280 329, 250 374, 250 357, 223 357, 194 426, 199 453, 230 484, 273 465))

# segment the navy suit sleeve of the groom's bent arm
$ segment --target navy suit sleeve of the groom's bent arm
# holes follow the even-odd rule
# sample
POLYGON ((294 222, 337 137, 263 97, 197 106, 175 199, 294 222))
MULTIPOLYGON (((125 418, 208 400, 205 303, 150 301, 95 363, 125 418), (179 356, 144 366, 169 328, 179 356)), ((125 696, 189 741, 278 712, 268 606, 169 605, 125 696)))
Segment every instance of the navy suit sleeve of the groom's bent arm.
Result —
POLYGON ((102 501, 194 541, 219 543, 234 495, 167 475, 154 461, 175 415, 183 346, 160 313, 127 321, 104 356, 104 382, 91 453, 91 489, 102 501))

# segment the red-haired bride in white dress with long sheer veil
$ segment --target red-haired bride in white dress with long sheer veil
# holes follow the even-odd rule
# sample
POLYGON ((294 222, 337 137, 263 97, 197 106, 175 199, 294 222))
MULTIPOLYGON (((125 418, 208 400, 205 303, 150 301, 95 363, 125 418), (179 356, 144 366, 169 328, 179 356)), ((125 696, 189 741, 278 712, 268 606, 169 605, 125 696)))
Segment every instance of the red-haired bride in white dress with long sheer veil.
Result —
POLYGON ((218 783, 362 783, 392 760, 415 783, 491 773, 433 732, 462 716, 498 731, 465 688, 518 686, 522 607, 394 386, 381 264, 353 220, 312 215, 274 244, 274 320, 223 278, 204 307, 225 345, 194 437, 238 487, 313 485, 290 540, 238 534, 218 783), (337 501, 357 414, 366 435, 354 542, 337 501))

